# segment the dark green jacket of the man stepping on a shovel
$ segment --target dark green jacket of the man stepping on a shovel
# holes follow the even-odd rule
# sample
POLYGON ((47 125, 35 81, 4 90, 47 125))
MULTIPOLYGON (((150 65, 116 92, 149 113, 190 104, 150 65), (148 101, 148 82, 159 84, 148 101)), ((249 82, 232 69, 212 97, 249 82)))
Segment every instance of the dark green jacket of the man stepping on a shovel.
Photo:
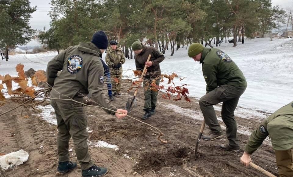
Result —
POLYGON ((238 87, 247 86, 245 77, 236 63, 219 49, 205 47, 200 63, 202 63, 202 73, 207 83, 207 93, 225 84, 238 87))

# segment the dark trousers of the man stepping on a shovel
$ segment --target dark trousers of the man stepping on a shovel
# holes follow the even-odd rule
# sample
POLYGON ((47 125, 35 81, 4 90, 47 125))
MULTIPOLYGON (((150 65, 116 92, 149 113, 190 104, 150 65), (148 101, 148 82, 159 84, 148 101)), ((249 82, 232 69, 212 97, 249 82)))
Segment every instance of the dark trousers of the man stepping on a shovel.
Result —
POLYGON ((214 133, 219 133, 222 129, 219 125, 213 105, 223 102, 221 115, 222 120, 226 125, 226 134, 231 146, 239 146, 234 110, 236 109, 238 100, 245 89, 246 87, 221 85, 213 91, 208 92, 199 100, 199 106, 204 116, 204 120, 214 133))

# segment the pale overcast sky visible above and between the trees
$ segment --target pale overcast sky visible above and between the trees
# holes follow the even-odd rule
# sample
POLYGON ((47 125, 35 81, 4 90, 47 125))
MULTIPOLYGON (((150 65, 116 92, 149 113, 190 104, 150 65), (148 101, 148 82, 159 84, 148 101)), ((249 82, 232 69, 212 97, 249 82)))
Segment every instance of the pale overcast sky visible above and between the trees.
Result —
MULTIPOLYGON (((155 0, 154 0, 155 1, 155 0)), ((31 16, 30 25, 33 29, 42 30, 43 27, 46 29, 50 28, 50 17, 48 16, 50 10, 50 0, 30 0, 31 6, 37 6, 31 16)), ((273 5, 279 5, 283 9, 293 9, 293 0, 272 0, 273 5)), ((27 46, 36 45, 37 42, 30 42, 27 46)))

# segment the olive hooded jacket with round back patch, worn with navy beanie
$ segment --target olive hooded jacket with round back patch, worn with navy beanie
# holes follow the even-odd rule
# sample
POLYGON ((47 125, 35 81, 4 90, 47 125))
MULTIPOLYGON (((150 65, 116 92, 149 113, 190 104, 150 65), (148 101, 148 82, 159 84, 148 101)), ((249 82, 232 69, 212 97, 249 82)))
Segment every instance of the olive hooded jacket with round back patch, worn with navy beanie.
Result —
MULTIPOLYGON (((101 51, 93 43, 80 42, 60 52, 47 66, 47 82, 52 86, 50 97, 61 99, 79 99, 84 95, 91 98, 102 107, 114 110, 109 100, 104 96, 104 68, 101 51), (59 76, 57 72, 62 70, 59 76)), ((60 100, 61 103, 73 104, 70 100, 60 100)), ((105 110, 109 114, 113 111, 105 110)))

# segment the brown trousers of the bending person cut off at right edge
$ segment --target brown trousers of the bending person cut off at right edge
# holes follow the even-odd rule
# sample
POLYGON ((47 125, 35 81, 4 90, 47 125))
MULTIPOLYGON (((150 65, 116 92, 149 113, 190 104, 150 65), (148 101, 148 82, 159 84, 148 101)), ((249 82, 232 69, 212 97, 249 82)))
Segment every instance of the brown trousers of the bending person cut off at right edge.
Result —
POLYGON ((293 176, 293 149, 275 150, 280 177, 293 176))

